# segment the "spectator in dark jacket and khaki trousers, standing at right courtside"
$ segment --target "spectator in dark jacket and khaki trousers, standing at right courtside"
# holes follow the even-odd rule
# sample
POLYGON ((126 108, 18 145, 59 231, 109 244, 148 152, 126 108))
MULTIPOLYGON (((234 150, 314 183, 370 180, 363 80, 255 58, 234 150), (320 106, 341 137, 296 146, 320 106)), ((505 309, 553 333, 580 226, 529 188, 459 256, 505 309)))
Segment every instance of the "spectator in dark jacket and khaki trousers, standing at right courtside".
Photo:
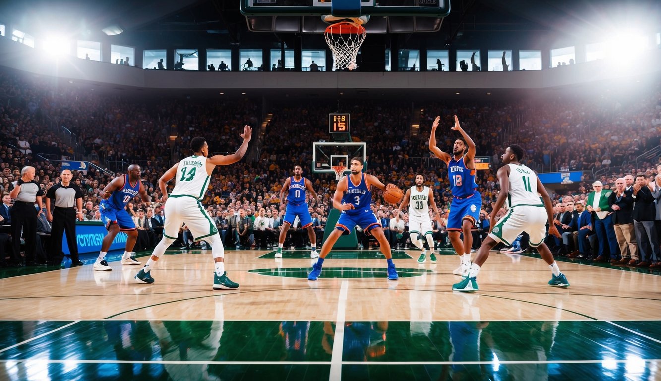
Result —
POLYGON ((608 204, 613 209, 613 228, 620 247, 622 259, 613 265, 635 265, 638 262, 638 244, 633 228, 633 187, 627 190, 623 177, 615 180, 615 191, 608 196, 608 204))

